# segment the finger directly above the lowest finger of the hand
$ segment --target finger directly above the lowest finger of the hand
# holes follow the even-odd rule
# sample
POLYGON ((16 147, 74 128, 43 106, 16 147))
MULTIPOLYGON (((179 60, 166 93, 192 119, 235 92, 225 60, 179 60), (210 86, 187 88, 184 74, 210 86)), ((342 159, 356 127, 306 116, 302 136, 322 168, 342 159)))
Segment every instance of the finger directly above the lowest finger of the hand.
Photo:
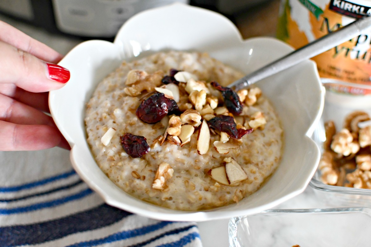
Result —
POLYGON ((15 124, 55 126, 52 117, 26 104, 0 94, 0 120, 15 124))

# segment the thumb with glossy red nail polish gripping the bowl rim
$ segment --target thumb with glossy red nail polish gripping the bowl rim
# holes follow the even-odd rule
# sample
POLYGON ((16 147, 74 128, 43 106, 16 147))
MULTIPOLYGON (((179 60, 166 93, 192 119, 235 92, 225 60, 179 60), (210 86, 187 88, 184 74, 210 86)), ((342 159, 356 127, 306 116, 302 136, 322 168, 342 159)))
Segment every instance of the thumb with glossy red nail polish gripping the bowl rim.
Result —
POLYGON ((59 89, 69 80, 69 70, 45 63, 2 41, 0 54, 0 83, 14 83, 24 90, 39 93, 59 89))

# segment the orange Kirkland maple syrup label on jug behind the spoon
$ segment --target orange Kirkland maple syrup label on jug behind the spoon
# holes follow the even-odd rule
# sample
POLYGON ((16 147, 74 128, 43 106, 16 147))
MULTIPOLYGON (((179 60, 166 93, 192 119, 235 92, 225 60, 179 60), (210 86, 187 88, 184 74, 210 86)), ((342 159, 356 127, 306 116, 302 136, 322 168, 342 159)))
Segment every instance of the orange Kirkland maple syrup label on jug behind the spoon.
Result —
MULTIPOLYGON (((371 15, 371 1, 359 1, 358 4, 356 0, 354 2, 282 0, 277 37, 298 49, 352 23, 359 17, 371 15), (364 6, 367 3, 370 3, 369 6, 364 6)), ((331 89, 334 91, 371 95, 370 44, 371 32, 363 32, 313 57, 319 76, 328 79, 326 81, 345 82, 339 85, 332 84, 331 89), (362 84, 361 89, 357 88, 359 84, 362 84)))

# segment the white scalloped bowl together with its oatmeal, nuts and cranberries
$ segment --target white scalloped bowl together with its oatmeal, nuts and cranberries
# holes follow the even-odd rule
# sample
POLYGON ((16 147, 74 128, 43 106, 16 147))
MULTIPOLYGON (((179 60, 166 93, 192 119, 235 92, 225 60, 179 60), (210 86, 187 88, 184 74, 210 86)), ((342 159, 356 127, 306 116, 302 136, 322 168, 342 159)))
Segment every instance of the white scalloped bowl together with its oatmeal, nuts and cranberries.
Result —
POLYGON ((60 64, 71 79, 50 109, 73 167, 106 203, 161 220, 254 214, 308 185, 324 90, 309 60, 247 90, 227 85, 290 51, 172 4, 132 17, 113 43, 70 51, 60 64))

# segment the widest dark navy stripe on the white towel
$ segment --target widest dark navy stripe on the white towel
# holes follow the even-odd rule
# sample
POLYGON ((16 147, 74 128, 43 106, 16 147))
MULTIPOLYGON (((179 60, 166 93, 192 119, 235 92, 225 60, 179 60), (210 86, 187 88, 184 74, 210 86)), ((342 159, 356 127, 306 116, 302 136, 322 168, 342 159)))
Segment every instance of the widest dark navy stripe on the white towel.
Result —
POLYGON ((56 220, 0 228, 0 247, 41 244, 109 226, 131 215, 106 204, 56 220))

